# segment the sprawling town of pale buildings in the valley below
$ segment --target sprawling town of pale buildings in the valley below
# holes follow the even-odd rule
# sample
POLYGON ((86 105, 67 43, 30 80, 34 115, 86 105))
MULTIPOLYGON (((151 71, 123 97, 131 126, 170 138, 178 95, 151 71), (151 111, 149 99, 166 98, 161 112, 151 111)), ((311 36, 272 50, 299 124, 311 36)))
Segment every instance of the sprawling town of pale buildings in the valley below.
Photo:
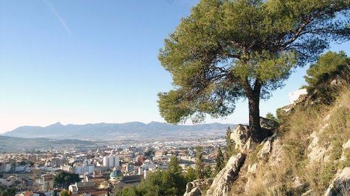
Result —
POLYGON ((70 195, 110 195, 125 186, 139 184, 152 171, 167 169, 172 156, 178 158, 183 172, 194 168, 198 145, 202 147, 205 163, 213 168, 215 149, 224 143, 222 136, 208 141, 156 141, 125 148, 116 145, 3 153, 0 184, 14 187, 18 196, 51 196, 65 187, 70 195))

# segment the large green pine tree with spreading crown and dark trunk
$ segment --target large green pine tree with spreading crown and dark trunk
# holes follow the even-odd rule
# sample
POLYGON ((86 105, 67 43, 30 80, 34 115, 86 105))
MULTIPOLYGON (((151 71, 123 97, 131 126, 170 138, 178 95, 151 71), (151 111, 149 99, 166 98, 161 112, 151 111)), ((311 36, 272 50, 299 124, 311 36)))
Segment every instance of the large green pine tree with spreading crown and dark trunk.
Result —
POLYGON ((177 124, 233 113, 248 99, 253 141, 264 139, 259 101, 329 42, 350 39, 349 0, 202 0, 165 40, 159 60, 174 89, 159 94, 177 124))

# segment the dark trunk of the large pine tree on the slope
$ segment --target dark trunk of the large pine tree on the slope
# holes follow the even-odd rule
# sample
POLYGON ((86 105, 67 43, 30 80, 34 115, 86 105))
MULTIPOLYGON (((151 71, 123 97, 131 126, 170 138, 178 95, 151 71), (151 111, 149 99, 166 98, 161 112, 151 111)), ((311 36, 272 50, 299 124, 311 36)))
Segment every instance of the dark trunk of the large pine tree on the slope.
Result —
POLYGON ((263 137, 261 135, 262 130, 260 126, 259 102, 259 94, 253 94, 251 97, 248 97, 249 126, 252 133, 252 139, 256 143, 259 143, 263 137))

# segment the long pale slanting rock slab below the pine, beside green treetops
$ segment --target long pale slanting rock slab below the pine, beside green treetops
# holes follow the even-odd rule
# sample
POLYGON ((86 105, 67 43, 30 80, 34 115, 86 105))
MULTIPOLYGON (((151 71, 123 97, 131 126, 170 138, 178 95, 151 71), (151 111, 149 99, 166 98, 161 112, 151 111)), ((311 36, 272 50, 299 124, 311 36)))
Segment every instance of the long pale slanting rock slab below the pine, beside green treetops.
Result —
POLYGON ((213 184, 207 191, 207 196, 227 196, 230 191, 231 183, 235 181, 244 163, 246 156, 237 154, 232 156, 224 169, 215 176, 213 184))

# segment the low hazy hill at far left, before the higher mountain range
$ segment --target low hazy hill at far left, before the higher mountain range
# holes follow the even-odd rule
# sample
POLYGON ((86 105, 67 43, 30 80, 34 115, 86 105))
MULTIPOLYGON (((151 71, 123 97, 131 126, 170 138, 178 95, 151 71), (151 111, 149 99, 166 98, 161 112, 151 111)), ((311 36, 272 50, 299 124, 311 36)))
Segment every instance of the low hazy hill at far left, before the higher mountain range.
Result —
POLYGON ((103 145, 78 139, 21 138, 0 135, 0 152, 21 152, 27 150, 94 148, 103 145))

